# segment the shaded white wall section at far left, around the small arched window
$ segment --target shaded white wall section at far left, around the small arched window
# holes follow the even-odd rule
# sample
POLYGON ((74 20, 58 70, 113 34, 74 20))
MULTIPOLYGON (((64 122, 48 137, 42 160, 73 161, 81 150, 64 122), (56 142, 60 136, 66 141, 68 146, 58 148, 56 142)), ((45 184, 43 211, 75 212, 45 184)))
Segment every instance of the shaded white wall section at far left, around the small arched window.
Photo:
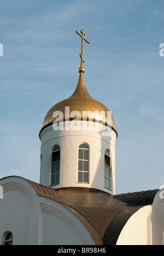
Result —
POLYGON ((6 231, 13 233, 14 245, 27 245, 27 242, 38 244, 39 208, 34 202, 35 191, 22 178, 9 177, 0 183, 3 187, 3 199, 0 200, 0 244, 6 231))

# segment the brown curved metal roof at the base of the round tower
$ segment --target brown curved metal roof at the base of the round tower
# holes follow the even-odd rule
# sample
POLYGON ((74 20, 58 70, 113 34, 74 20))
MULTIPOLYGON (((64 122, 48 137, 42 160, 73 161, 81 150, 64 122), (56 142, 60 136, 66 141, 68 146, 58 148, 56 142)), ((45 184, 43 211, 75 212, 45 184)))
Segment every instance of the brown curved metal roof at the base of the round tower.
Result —
MULTIPOLYGON (((27 180, 28 181, 28 180, 27 180)), ((39 196, 62 203, 84 223, 97 245, 116 245, 127 220, 140 208, 151 205, 159 191, 110 195, 89 188, 51 189, 28 181, 39 196)))

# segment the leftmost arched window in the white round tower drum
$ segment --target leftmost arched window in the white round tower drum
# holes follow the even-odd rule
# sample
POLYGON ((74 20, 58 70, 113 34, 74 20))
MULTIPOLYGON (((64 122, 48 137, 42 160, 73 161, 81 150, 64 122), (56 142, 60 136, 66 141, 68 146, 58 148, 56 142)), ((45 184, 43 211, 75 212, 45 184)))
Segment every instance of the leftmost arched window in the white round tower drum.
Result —
POLYGON ((60 147, 52 149, 51 185, 60 183, 60 147))

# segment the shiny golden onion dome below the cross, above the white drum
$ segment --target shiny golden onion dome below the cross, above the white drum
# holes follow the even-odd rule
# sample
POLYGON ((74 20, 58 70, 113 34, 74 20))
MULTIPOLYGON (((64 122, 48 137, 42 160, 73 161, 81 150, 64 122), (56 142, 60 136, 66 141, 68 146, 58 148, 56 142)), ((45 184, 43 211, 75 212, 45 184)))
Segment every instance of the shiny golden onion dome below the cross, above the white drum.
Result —
MULTIPOLYGON (((109 117, 109 109, 104 106, 101 102, 94 100, 89 92, 87 92, 85 81, 84 81, 84 73, 85 69, 82 68, 79 70, 79 80, 77 84, 77 88, 71 97, 58 102, 53 106, 49 112, 46 114, 44 119, 43 127, 52 124, 57 118, 53 118, 52 115, 56 111, 60 111, 63 113, 63 120, 66 120, 66 112, 65 108, 69 107, 69 117, 72 117, 71 113, 74 112, 74 118, 80 118, 81 120, 94 120, 101 121, 104 124, 109 124, 115 129, 114 119, 112 114, 109 117), (78 114, 79 113, 79 114, 78 114), (109 120, 110 119, 110 120, 109 120)), ((72 118, 73 119, 73 118, 72 118)))

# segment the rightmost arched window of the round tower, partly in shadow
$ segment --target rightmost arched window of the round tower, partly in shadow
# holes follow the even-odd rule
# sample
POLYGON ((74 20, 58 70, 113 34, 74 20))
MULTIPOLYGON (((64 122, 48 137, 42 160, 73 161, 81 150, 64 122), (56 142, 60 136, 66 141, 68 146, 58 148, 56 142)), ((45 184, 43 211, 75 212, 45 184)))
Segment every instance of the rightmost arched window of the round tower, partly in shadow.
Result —
POLYGON ((105 174, 104 174, 104 187, 107 189, 112 188, 112 173, 111 173, 111 164, 110 164, 110 153, 108 150, 105 151, 105 174))

